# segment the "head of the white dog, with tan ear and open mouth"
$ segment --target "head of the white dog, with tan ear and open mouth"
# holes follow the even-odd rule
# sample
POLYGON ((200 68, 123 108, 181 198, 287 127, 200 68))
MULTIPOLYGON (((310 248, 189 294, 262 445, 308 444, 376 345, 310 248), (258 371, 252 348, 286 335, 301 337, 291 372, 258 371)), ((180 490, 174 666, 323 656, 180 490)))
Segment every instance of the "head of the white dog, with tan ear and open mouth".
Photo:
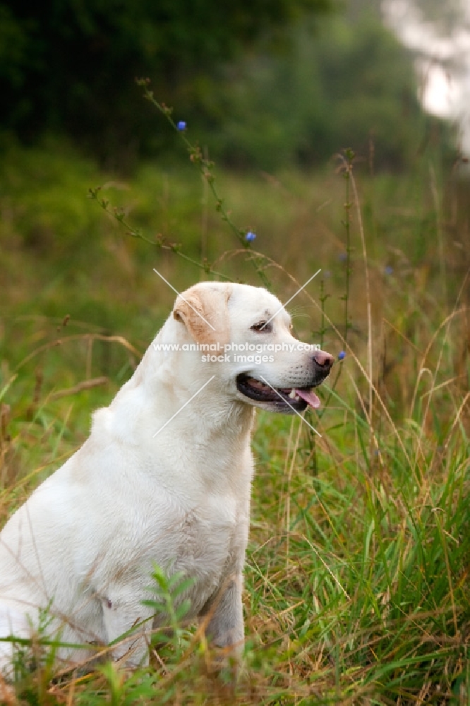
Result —
POLYGON ((334 358, 291 335, 289 314, 266 289, 201 282, 176 299, 173 316, 198 344, 207 379, 215 374, 229 395, 287 414, 320 406, 313 388, 334 358))

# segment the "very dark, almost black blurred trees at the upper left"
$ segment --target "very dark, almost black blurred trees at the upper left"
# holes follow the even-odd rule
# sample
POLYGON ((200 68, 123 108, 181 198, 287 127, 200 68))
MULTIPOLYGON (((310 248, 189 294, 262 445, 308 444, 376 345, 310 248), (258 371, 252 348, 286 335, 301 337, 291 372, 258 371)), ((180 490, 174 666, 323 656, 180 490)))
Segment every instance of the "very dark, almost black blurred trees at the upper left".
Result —
POLYGON ((102 158, 135 151, 151 134, 135 76, 189 104, 220 61, 334 1, 0 1, 0 126, 65 131, 102 158))

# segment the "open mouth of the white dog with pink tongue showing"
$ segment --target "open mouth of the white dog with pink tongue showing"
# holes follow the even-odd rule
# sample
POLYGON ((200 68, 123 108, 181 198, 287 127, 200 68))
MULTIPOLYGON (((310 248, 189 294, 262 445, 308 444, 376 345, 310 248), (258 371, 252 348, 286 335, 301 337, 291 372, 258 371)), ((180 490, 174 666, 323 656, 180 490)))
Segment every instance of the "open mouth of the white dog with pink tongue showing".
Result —
POLYGON ((272 388, 256 378, 241 373, 236 378, 236 387, 242 395, 254 402, 267 402, 279 412, 303 412, 308 406, 320 407, 320 400, 309 388, 272 388))

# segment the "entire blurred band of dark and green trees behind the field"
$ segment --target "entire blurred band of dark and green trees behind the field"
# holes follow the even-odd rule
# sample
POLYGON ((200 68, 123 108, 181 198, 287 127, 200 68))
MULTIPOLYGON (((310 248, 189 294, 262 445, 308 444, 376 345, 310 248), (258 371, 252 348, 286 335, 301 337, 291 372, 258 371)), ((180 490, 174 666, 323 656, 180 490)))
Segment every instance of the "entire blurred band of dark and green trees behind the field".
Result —
POLYGON ((135 86, 149 76, 232 167, 311 167, 351 146, 400 169, 444 129, 421 111, 413 61, 378 0, 4 0, 0 131, 65 134, 121 171, 142 155, 174 161, 174 136, 135 86))

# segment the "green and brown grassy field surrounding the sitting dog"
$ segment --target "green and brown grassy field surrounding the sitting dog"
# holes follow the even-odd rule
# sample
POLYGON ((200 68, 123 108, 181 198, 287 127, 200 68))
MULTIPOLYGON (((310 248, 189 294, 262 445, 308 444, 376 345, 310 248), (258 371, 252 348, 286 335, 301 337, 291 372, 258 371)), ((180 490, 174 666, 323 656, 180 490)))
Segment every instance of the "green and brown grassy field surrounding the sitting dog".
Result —
MULTIPOLYGON (((214 676, 194 626, 156 636, 152 669, 87 676, 19 659, 30 705, 464 705, 470 702, 468 186, 422 157, 373 176, 217 176, 229 218, 191 165, 102 174, 64 145, 11 147, 1 186, 0 523, 83 443, 168 316, 210 275, 132 238, 181 244, 233 280, 267 277, 295 333, 344 350, 308 420, 259 414, 246 565, 245 666, 214 676), (120 213, 120 212, 119 212, 120 213), (253 266, 255 265, 255 266, 253 266)), ((1 689, 1 686, 0 686, 1 689)), ((1 693, 1 691, 0 691, 1 693)), ((1 697, 0 697, 1 701, 1 697)))

